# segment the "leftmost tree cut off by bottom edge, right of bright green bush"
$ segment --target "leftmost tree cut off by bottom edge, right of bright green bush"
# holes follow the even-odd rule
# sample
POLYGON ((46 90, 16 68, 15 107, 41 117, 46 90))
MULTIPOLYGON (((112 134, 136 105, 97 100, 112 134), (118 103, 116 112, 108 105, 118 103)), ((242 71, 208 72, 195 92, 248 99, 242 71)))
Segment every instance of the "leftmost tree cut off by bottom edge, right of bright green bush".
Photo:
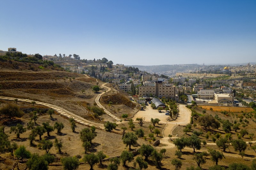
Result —
POLYGON ((26 165, 30 170, 47 170, 48 162, 43 156, 39 156, 38 153, 33 153, 31 158, 28 159, 26 165))

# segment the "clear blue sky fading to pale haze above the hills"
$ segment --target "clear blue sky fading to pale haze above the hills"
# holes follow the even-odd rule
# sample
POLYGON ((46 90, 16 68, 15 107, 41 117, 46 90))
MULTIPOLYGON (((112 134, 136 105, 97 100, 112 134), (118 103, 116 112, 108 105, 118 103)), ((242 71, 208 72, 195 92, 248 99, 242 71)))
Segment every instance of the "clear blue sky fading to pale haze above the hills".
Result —
POLYGON ((0 49, 124 65, 256 62, 256 0, 0 0, 0 49))

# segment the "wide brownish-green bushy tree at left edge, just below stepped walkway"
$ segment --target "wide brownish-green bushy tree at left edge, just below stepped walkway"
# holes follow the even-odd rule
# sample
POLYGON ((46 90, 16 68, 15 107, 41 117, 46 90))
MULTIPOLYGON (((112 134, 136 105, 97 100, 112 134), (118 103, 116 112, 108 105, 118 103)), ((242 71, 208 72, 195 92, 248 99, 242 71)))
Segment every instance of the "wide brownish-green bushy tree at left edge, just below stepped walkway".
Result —
POLYGON ((0 109, 0 114, 9 116, 9 118, 12 118, 12 117, 22 117, 24 112, 21 111, 17 105, 8 103, 0 109))

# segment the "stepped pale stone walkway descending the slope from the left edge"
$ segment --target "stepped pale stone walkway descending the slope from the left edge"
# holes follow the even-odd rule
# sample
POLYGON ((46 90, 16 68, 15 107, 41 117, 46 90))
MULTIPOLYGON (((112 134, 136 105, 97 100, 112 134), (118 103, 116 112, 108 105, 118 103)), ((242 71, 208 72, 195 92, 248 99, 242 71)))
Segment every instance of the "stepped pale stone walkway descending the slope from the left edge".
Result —
MULTIPOLYGON (((0 96, 0 100, 14 101, 15 99, 16 98, 0 96)), ((31 103, 31 102, 33 102, 33 100, 18 99, 18 102, 28 102, 28 103, 31 103)), ((44 106, 47 106, 49 108, 52 108, 52 109, 56 110, 58 113, 60 113, 60 115, 62 115, 62 116, 65 116, 67 118, 73 118, 73 119, 75 119, 76 122, 78 122, 80 124, 87 125, 87 126, 96 126, 96 127, 100 128, 100 129, 104 129, 102 124, 93 123, 91 121, 88 121, 88 120, 84 119, 83 117, 77 116, 74 113, 71 113, 70 111, 65 110, 63 108, 60 108, 58 106, 55 106, 55 105, 52 105, 52 104, 48 104, 48 103, 43 103, 43 102, 37 102, 37 101, 34 101, 34 102, 36 102, 35 104, 44 105, 44 106)))

